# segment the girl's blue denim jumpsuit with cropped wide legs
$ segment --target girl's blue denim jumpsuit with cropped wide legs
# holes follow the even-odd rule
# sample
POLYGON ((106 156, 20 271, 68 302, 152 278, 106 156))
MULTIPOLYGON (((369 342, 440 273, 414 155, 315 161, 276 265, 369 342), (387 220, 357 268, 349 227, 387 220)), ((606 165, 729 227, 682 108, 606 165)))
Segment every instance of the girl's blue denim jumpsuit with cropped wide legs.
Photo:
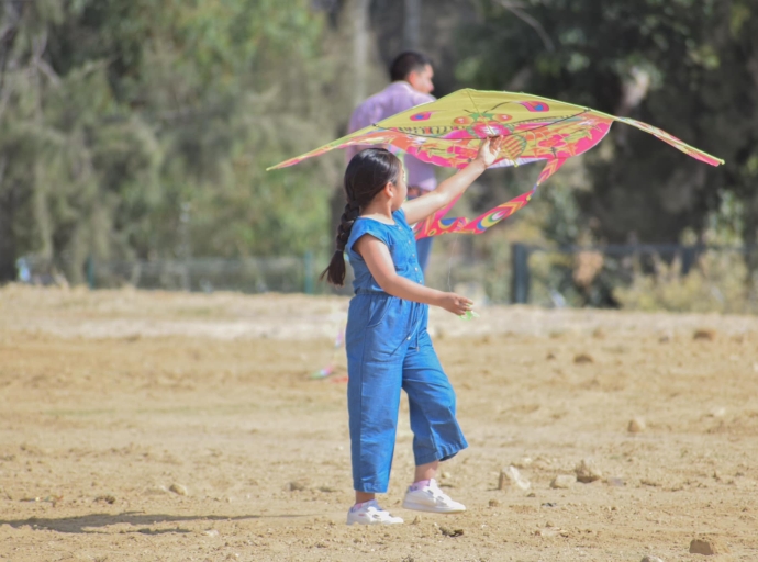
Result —
POLYGON ((345 331, 353 482, 386 493, 394 452, 400 389, 408 394, 416 465, 449 459, 468 447, 455 418, 456 398, 426 331, 428 305, 382 291, 353 249, 371 235, 390 249, 399 276, 424 283, 405 213, 393 225, 359 217, 345 247, 355 271, 345 331))

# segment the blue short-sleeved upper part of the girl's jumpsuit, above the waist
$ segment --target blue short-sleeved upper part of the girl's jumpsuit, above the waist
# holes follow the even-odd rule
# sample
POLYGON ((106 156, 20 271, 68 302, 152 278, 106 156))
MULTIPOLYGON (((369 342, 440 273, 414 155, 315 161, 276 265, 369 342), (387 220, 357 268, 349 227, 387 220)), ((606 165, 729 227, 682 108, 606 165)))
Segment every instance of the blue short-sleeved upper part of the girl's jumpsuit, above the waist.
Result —
POLYGON ((353 246, 358 239, 369 234, 375 238, 383 241, 390 249, 394 270, 399 276, 424 284, 424 273, 419 266, 419 258, 416 251, 416 240, 413 236, 413 231, 405 221, 405 212, 399 209, 392 213, 394 224, 384 224, 374 218, 366 218, 359 216, 353 223, 350 237, 345 245, 345 250, 353 266, 355 280, 353 281, 353 289, 356 294, 360 293, 383 293, 379 283, 377 283, 364 258, 357 254, 353 246))

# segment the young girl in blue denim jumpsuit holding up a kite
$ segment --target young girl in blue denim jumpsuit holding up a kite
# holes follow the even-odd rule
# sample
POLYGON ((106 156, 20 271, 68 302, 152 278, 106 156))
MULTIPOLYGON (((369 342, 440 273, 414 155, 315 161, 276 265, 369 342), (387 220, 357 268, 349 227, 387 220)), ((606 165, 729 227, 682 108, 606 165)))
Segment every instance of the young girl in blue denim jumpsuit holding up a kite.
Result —
POLYGON ((400 160, 383 148, 367 148, 345 171, 347 204, 337 231, 337 249, 324 270, 330 283, 345 281, 344 251, 355 272, 345 333, 347 409, 356 504, 347 525, 401 524, 377 504, 387 492, 400 406, 408 394, 415 458, 414 483, 403 507, 459 513, 466 507, 437 486, 439 461, 467 447, 455 418, 455 393, 426 331, 428 305, 466 314, 472 302, 424 286, 409 224, 426 218, 462 193, 494 162, 502 137, 486 139, 476 159, 437 189, 405 201, 400 160))

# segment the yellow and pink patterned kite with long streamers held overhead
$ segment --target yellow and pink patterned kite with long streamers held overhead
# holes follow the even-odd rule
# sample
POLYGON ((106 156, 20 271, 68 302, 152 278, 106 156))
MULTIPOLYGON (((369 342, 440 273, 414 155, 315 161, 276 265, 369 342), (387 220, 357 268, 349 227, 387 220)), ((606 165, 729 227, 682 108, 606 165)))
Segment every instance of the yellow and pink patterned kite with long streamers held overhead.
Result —
POLYGON ((444 218, 456 201, 415 225, 416 238, 447 233, 483 233, 526 205, 537 187, 564 162, 603 139, 614 121, 635 126, 698 160, 718 166, 724 160, 684 144, 660 128, 628 117, 615 117, 589 108, 526 93, 459 90, 437 101, 416 105, 371 126, 316 148, 275 168, 285 168, 335 148, 389 145, 425 162, 464 168, 477 155, 482 138, 506 137, 493 167, 545 160, 534 187, 511 201, 469 221, 444 218))

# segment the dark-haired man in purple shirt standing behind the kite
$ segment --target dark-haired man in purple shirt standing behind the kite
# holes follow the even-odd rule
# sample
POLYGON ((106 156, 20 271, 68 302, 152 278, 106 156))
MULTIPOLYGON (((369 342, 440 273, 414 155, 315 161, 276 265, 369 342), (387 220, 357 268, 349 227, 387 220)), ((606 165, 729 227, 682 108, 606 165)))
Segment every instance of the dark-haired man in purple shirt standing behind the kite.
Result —
MULTIPOLYGON (((421 103, 434 101, 434 69, 432 61, 423 54, 406 50, 398 55, 390 65, 390 83, 379 93, 376 93, 358 105, 348 125, 348 134, 378 123, 387 117, 409 110, 421 103)), ((366 146, 352 146, 347 148, 347 161, 366 146)), ((415 199, 422 193, 432 191, 437 187, 434 176, 434 166, 423 162, 417 158, 405 155, 404 167, 408 173, 408 198, 415 199)), ((416 254, 422 271, 426 270, 430 252, 432 251, 432 238, 416 240, 416 254)))

